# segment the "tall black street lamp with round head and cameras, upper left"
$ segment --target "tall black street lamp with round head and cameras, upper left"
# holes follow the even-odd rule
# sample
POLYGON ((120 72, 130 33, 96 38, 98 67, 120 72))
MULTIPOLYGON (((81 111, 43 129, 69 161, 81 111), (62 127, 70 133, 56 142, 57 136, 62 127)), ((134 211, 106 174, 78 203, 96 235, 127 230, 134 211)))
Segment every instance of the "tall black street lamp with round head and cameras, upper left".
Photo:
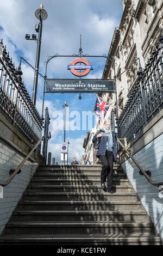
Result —
POLYGON ((36 53, 36 63, 35 63, 35 76, 34 76, 34 86, 33 86, 33 98, 32 101, 34 105, 36 105, 36 94, 37 94, 37 83, 38 83, 38 75, 39 75, 39 63, 40 63, 40 49, 41 49, 41 35, 42 35, 42 21, 47 19, 47 12, 43 9, 43 5, 40 5, 40 9, 35 11, 35 17, 40 20, 39 24, 36 24, 35 31, 38 34, 38 38, 36 38, 35 34, 32 34, 32 39, 30 39, 30 35, 26 34, 26 40, 35 40, 37 42, 37 53, 36 53))

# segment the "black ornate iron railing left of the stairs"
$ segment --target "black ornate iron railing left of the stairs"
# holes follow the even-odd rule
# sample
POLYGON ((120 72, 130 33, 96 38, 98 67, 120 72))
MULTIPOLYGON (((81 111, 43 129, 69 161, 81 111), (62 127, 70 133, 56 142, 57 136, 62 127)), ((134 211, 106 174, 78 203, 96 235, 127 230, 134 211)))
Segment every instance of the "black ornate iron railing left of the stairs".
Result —
POLYGON ((21 68, 15 69, 4 46, 0 65, 0 111, 28 141, 36 143, 42 136, 43 120, 22 82, 21 68))

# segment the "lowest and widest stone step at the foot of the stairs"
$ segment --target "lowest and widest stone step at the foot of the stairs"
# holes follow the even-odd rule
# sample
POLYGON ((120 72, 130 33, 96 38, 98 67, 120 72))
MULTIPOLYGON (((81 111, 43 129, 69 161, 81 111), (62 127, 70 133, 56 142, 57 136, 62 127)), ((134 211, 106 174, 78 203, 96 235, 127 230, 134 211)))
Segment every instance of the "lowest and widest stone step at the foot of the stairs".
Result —
MULTIPOLYGON (((45 235, 42 234, 21 234, 21 235, 4 235, 0 238, 1 245, 82 245, 83 247, 89 247, 90 245, 161 245, 160 237, 156 235, 118 235, 117 237, 112 235, 83 235, 73 234, 65 235, 45 235)), ((76 250, 77 251, 77 250, 76 250)))

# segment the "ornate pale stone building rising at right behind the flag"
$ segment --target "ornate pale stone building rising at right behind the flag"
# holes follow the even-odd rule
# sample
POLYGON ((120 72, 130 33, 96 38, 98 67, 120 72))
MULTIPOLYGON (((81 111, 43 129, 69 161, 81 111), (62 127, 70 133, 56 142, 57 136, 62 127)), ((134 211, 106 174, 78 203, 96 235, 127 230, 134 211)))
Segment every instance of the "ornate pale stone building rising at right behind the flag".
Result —
MULTIPOLYGON (((161 0, 122 0, 122 6, 120 26, 115 27, 108 53, 108 57, 114 60, 115 70, 113 63, 107 59, 102 76, 113 79, 116 75, 118 116, 137 82, 139 64, 142 68, 146 68, 145 63, 151 58, 152 48, 157 44, 163 27, 161 0)), ((116 95, 112 93, 98 95, 112 105, 105 119, 111 118, 112 109, 116 116, 116 95)), ((96 111, 96 103, 94 111, 96 111)), ((103 124, 97 122, 93 131, 96 132, 102 126, 103 124)), ((91 139, 92 136, 89 138, 87 136, 84 144, 87 155, 95 154, 91 152, 91 139)))

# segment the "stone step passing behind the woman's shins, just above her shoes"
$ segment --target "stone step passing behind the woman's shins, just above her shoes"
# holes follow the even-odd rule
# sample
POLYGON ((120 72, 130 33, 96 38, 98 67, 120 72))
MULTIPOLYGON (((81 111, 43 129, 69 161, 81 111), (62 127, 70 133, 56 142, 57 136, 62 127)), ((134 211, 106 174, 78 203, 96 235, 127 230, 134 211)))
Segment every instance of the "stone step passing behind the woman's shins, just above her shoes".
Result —
MULTIPOLYGON (((72 185, 101 185, 101 179, 40 179, 34 177, 30 181, 30 185, 62 185, 62 186, 72 186, 72 185)), ((127 186, 129 184, 128 179, 113 179, 112 185, 122 185, 127 186)))

